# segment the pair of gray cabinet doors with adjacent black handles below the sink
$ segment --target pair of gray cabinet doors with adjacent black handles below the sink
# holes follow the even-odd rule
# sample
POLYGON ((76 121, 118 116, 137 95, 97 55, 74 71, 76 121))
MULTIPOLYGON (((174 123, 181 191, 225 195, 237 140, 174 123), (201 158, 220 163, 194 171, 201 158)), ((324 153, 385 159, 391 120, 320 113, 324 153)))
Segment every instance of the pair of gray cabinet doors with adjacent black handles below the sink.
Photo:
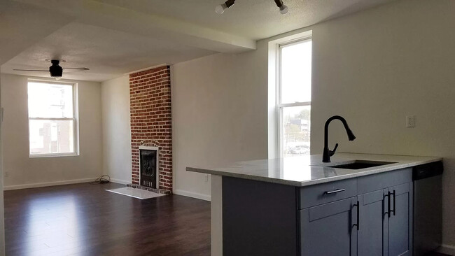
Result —
POLYGON ((412 183, 358 196, 358 256, 411 255, 412 183))

